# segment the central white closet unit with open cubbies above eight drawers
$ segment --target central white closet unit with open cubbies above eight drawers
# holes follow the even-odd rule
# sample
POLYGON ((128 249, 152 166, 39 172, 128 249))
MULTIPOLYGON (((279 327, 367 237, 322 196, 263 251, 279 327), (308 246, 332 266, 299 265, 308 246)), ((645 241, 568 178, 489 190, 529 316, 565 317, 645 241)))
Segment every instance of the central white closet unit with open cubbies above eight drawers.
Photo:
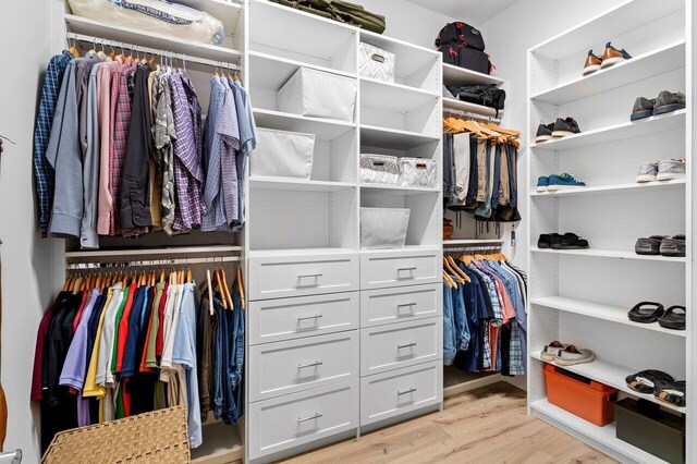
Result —
POLYGON ((245 8, 257 125, 316 135, 310 180, 249 178, 245 451, 268 462, 441 406, 440 167, 433 188, 359 181, 362 152, 439 159, 441 61, 277 3, 245 8), (395 83, 359 76, 362 41, 395 53, 395 83), (279 111, 302 66, 355 82, 352 121, 279 111), (409 208, 406 247, 363 251, 362 206, 409 208))

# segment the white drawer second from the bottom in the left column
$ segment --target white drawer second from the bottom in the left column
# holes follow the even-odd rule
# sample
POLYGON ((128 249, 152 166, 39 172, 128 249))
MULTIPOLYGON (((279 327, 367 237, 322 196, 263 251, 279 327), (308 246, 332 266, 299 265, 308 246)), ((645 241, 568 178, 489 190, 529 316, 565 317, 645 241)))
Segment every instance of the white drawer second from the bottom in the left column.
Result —
POLYGON ((249 401, 358 377, 358 331, 249 347, 249 401))

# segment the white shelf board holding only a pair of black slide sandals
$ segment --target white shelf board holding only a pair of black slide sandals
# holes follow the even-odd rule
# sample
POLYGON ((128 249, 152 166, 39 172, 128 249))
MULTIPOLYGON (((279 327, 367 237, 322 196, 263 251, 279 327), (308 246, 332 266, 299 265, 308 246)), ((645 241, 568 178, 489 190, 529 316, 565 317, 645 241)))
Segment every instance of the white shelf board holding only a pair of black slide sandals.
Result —
POLYGON ((587 302, 584 300, 567 298, 565 296, 547 296, 543 298, 533 298, 530 300, 530 304, 534 306, 542 306, 565 313, 579 314, 583 316, 601 319, 603 321, 623 323, 626 326, 636 327, 638 329, 667 333, 669 335, 682 338, 686 337, 685 330, 665 329, 659 326, 658 322, 641 323, 629 320, 629 318, 627 317, 627 313, 631 308, 621 306, 612 306, 602 303, 587 302))

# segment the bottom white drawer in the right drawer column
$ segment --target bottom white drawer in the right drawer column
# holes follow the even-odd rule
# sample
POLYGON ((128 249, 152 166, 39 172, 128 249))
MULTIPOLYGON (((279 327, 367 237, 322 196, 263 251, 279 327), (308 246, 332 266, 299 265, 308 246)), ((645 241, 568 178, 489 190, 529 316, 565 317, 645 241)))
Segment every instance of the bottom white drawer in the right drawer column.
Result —
POLYGON ((443 365, 437 361, 360 379, 360 425, 443 401, 443 365))

